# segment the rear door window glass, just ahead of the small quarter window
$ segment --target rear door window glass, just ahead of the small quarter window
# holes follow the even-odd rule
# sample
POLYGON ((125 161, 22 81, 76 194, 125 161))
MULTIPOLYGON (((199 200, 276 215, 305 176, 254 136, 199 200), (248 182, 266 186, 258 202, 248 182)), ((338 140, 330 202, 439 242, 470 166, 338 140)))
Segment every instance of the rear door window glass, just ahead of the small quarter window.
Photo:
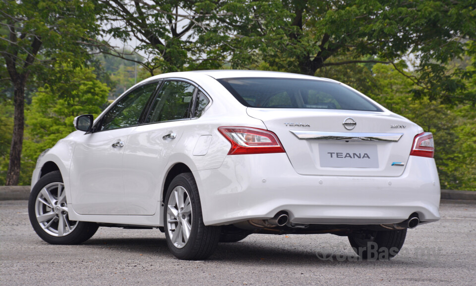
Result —
POLYGON ((162 86, 146 123, 188 118, 195 87, 186 82, 167 81, 162 86))

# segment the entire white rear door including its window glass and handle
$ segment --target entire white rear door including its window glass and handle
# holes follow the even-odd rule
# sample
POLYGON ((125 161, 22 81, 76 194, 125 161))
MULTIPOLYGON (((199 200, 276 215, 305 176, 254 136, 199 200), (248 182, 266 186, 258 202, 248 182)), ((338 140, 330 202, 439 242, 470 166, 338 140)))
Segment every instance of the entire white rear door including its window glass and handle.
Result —
POLYGON ((184 81, 166 81, 152 101, 147 125, 129 136, 122 161, 124 197, 129 214, 153 215, 162 190, 169 156, 190 123, 196 88, 184 81))

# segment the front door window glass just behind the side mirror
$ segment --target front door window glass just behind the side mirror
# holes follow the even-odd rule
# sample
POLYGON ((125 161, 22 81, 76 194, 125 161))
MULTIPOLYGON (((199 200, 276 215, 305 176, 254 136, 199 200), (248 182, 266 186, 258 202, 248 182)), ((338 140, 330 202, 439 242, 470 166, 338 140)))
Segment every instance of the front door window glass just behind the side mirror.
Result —
POLYGON ((157 83, 145 85, 119 99, 119 102, 104 115, 99 130, 137 125, 139 117, 156 87, 157 83))

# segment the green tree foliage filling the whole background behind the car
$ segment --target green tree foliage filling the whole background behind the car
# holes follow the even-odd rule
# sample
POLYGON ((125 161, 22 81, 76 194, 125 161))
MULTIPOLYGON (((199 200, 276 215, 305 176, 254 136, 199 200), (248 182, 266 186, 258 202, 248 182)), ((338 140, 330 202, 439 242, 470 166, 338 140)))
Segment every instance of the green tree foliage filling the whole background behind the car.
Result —
POLYGON ((476 0, 1 1, 0 172, 11 140, 10 169, 19 170, 24 146, 27 184, 36 156, 73 130, 75 115, 99 113, 107 92, 98 79, 117 96, 135 83, 135 62, 138 81, 219 68, 342 81, 433 132, 443 188, 476 190, 475 7, 476 0), (118 40, 133 50, 114 47, 118 40))

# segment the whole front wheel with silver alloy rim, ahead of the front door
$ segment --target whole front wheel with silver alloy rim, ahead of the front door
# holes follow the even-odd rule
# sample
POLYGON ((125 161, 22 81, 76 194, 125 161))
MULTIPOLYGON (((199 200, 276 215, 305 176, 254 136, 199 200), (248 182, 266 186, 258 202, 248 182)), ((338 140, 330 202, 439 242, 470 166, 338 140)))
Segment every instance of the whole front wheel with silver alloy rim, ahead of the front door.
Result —
POLYGON ((51 244, 78 244, 91 238, 98 224, 69 220, 60 171, 43 176, 33 187, 28 216, 40 238, 51 244))

